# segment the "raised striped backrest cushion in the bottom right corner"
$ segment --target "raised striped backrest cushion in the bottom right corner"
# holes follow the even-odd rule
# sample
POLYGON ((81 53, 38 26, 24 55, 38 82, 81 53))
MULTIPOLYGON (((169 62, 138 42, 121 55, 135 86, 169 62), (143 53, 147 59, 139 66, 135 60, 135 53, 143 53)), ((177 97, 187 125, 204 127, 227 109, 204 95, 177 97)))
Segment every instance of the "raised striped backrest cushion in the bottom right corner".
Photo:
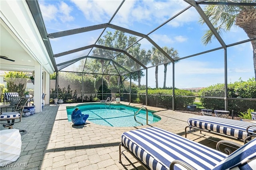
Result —
POLYGON ((256 139, 246 143, 214 167, 214 170, 256 170, 256 139))

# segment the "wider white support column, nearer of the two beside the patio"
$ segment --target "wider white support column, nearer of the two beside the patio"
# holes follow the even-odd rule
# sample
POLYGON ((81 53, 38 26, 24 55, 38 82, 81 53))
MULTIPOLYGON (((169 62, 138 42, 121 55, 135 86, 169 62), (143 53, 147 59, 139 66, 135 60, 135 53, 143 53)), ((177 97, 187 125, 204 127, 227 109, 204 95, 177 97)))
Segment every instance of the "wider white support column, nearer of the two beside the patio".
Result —
POLYGON ((34 106, 36 113, 42 111, 42 66, 35 61, 34 106))

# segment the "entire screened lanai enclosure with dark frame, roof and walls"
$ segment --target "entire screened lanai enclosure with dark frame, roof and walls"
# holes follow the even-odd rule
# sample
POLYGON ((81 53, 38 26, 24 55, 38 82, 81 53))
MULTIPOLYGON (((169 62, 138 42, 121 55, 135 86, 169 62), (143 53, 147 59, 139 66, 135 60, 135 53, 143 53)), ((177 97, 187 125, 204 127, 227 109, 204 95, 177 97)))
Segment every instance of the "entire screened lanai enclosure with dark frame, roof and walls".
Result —
POLYGON ((255 0, 27 4, 55 64, 51 98, 256 109, 255 0))

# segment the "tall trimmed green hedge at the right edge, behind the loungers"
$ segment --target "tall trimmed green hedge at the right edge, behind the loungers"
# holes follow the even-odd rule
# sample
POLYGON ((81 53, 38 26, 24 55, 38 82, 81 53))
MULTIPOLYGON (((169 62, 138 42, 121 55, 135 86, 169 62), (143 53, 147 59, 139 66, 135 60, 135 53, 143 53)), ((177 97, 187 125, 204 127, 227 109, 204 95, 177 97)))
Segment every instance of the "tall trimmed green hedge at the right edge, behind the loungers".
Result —
MULTIPOLYGON (((200 91, 200 96, 224 97, 224 84, 209 86, 200 91)), ((228 84, 228 98, 256 98, 255 78, 244 82, 234 82, 228 84)), ((207 109, 225 109, 223 99, 200 98, 202 106, 207 109)), ((228 100, 228 109, 235 113, 247 111, 248 108, 256 109, 256 101, 249 100, 228 100)))

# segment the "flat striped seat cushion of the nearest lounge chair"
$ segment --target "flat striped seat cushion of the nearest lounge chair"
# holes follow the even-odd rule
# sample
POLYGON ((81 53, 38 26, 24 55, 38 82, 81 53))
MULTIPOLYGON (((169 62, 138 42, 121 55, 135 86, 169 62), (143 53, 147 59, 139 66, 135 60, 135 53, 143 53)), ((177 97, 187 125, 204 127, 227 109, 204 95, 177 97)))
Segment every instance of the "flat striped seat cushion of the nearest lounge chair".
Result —
MULTIPOLYGON (((122 144, 152 170, 169 169, 173 160, 182 160, 196 169, 210 170, 227 157, 222 152, 158 127, 125 132, 122 144)), ((181 168, 178 164, 177 167, 181 168)))

